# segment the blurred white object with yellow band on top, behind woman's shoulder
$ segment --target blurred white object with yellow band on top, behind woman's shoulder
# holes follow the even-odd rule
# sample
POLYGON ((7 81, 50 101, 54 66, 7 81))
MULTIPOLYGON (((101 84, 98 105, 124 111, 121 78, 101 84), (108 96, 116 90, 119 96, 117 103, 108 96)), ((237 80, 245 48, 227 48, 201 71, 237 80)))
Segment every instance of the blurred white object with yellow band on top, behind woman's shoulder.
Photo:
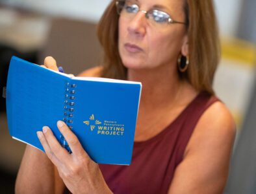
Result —
POLYGON ((222 59, 214 89, 229 107, 240 129, 250 103, 255 78, 256 45, 235 38, 222 39, 222 59))

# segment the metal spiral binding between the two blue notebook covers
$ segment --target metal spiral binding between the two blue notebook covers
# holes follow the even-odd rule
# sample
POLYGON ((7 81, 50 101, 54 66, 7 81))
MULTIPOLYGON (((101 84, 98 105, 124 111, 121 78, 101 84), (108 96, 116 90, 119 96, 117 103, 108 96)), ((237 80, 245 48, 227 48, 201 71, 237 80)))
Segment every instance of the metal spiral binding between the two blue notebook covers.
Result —
MULTIPOLYGON (((64 116, 63 121, 68 125, 68 127, 72 130, 73 126, 73 112, 75 111, 74 105, 75 102, 75 87, 77 87, 75 84, 66 83, 66 94, 65 94, 65 100, 64 100, 64 116)), ((68 146, 68 142, 65 140, 63 135, 60 135, 60 144, 62 147, 65 147, 70 153, 72 153, 70 146, 68 146)))

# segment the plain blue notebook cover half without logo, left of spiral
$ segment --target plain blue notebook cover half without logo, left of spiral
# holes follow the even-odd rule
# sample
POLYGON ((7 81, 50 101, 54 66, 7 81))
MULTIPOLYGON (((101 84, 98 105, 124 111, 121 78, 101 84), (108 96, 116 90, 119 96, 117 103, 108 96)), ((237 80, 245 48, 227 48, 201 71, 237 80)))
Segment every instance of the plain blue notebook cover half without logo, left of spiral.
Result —
POLYGON ((43 149, 36 131, 44 125, 60 136, 56 122, 63 118, 66 76, 12 57, 6 87, 6 113, 11 136, 43 149))

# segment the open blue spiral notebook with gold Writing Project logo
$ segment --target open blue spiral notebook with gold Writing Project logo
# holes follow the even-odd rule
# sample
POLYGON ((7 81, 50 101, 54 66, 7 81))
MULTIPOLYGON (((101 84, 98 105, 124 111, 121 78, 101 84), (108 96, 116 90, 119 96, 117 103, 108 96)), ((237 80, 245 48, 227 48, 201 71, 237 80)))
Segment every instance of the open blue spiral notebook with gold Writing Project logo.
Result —
POLYGON ((44 151, 36 131, 47 125, 70 151, 57 128, 64 120, 92 160, 129 165, 141 88, 134 81, 70 76, 13 56, 6 87, 8 129, 16 140, 44 151))

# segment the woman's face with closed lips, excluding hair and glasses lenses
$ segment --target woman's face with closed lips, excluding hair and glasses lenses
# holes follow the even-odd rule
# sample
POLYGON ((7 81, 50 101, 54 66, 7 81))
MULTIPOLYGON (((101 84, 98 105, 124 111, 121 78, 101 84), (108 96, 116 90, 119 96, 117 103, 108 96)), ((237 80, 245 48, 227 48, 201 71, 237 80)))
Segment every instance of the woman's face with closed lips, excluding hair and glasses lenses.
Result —
MULTIPOLYGON (((154 69, 177 63, 181 50, 187 51, 186 26, 179 23, 157 23, 146 18, 141 10, 160 10, 173 20, 185 22, 184 1, 130 0, 127 5, 138 5, 140 11, 123 9, 119 19, 118 49, 123 65, 128 69, 154 69)), ((136 6, 130 6, 130 8, 136 6)))

